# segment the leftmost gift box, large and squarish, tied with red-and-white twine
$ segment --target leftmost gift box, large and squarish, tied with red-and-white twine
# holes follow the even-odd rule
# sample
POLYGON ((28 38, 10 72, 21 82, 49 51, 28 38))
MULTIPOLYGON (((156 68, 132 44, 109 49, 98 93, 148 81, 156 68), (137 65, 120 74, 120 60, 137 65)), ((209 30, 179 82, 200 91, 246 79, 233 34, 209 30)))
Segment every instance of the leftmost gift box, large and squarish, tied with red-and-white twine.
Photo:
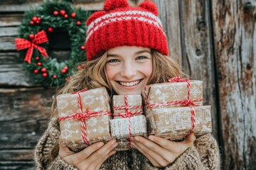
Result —
POLYGON ((105 88, 61 94, 57 106, 62 142, 73 151, 112 138, 110 98, 105 88))

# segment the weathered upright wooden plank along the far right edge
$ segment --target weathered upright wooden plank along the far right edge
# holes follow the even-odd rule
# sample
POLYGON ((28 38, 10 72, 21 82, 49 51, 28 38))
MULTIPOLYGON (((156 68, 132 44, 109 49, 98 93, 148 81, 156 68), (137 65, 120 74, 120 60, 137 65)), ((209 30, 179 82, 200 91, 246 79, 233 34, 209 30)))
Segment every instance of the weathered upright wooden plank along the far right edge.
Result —
POLYGON ((225 169, 256 167, 256 1, 212 1, 225 169))

